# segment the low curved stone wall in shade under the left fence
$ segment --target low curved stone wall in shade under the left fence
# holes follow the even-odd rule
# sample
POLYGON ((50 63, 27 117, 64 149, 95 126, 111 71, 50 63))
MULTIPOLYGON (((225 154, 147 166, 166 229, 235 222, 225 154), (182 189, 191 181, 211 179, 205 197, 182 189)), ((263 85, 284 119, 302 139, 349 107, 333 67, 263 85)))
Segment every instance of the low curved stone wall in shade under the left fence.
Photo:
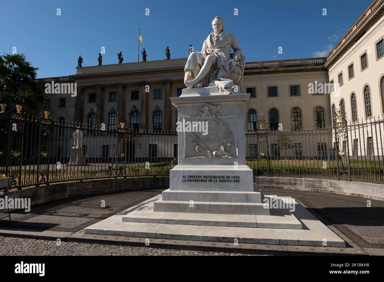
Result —
MULTIPOLYGON (((169 177, 119 178, 59 183, 9 191, 8 198, 31 198, 31 206, 35 206, 36 204, 43 204, 50 201, 98 193, 148 189, 166 190, 168 188, 169 177)), ((7 212, 7 210, 3 212, 7 212)))

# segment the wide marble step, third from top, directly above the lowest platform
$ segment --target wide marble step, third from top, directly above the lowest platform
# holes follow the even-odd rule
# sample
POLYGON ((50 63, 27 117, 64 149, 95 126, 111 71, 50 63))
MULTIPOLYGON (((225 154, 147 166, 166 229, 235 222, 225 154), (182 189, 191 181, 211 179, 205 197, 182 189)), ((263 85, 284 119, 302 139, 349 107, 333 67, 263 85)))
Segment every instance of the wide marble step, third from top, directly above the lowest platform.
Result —
POLYGON ((205 214, 133 211, 122 217, 124 222, 165 223, 203 226, 302 229, 293 214, 205 214))

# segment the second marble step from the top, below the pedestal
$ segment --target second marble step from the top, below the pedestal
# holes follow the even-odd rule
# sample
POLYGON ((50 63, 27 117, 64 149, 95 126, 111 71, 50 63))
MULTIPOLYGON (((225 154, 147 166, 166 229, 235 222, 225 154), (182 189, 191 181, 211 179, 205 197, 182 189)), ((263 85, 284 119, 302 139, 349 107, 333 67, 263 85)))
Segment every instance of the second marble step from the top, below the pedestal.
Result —
POLYGON ((269 215, 269 205, 263 203, 227 203, 193 201, 156 201, 154 211, 172 213, 262 214, 269 215))

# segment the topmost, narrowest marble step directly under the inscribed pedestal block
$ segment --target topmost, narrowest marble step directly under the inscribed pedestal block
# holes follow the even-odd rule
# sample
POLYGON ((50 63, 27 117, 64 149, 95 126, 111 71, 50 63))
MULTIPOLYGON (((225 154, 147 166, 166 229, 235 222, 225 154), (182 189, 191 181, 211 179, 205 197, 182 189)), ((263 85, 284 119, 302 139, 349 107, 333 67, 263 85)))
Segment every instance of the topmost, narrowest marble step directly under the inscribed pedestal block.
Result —
POLYGON ((167 189, 162 192, 164 201, 200 201, 200 202, 227 202, 227 203, 262 203, 260 192, 235 191, 174 191, 167 189))

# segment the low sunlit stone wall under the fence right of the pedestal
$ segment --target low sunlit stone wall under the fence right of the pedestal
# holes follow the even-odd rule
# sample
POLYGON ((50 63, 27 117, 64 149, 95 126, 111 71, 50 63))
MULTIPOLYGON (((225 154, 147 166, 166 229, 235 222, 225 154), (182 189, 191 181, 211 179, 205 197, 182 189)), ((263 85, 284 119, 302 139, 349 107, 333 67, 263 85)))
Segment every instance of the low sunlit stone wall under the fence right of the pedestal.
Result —
POLYGON ((303 191, 319 191, 341 195, 358 196, 384 201, 384 185, 358 181, 332 180, 320 178, 254 177, 259 189, 283 188, 303 191))

